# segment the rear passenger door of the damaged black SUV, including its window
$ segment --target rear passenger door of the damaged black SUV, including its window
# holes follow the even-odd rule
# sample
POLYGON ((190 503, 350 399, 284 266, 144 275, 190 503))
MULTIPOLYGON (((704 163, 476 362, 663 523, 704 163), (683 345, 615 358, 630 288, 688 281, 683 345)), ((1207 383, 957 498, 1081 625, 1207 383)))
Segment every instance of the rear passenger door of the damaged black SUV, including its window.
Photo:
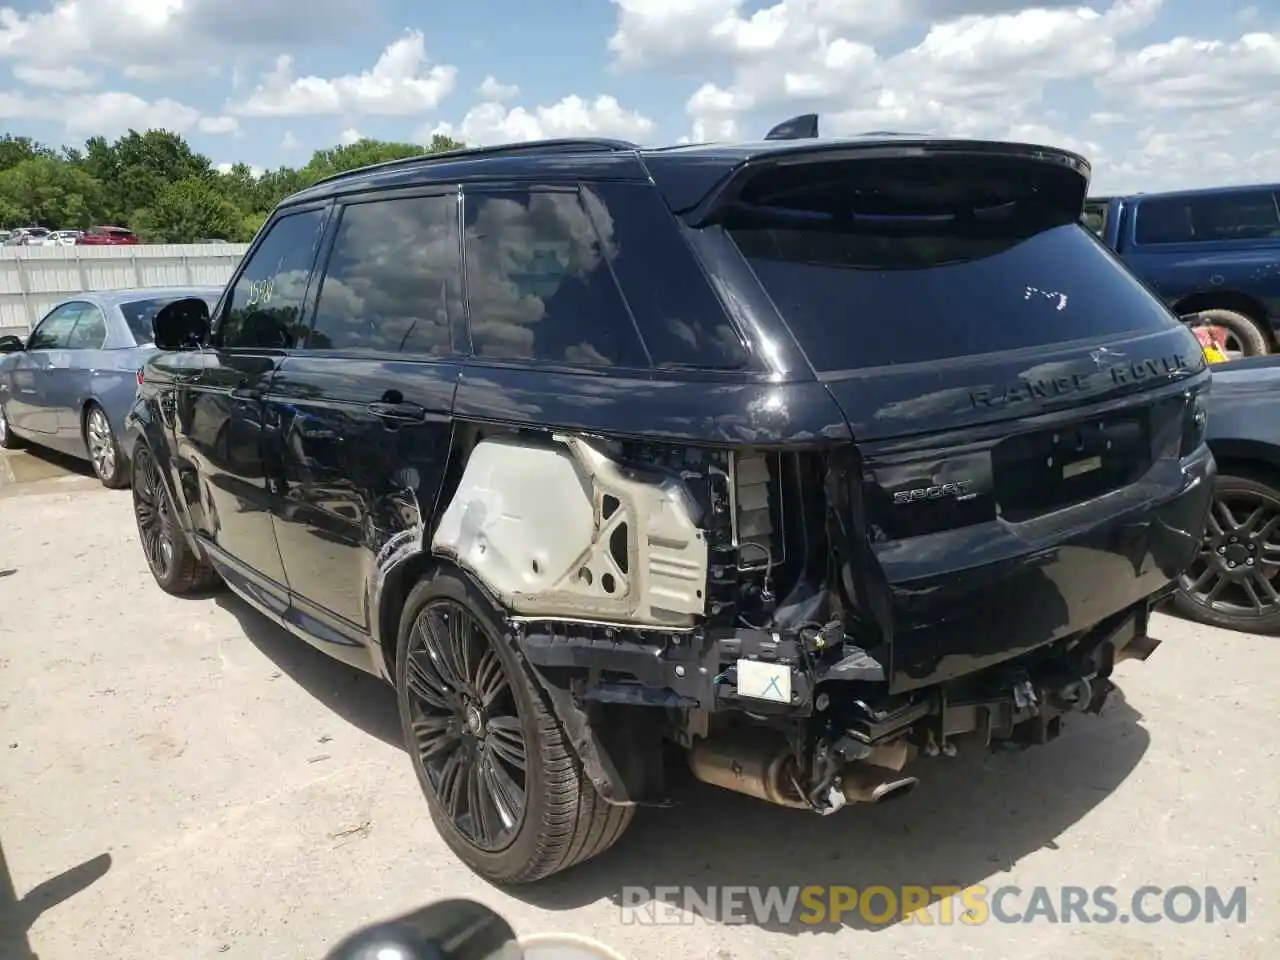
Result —
POLYGON ((421 549, 448 460, 462 370, 458 195, 375 196, 334 216, 314 326, 268 398, 283 461, 275 531, 291 617, 367 666, 379 585, 421 549))

